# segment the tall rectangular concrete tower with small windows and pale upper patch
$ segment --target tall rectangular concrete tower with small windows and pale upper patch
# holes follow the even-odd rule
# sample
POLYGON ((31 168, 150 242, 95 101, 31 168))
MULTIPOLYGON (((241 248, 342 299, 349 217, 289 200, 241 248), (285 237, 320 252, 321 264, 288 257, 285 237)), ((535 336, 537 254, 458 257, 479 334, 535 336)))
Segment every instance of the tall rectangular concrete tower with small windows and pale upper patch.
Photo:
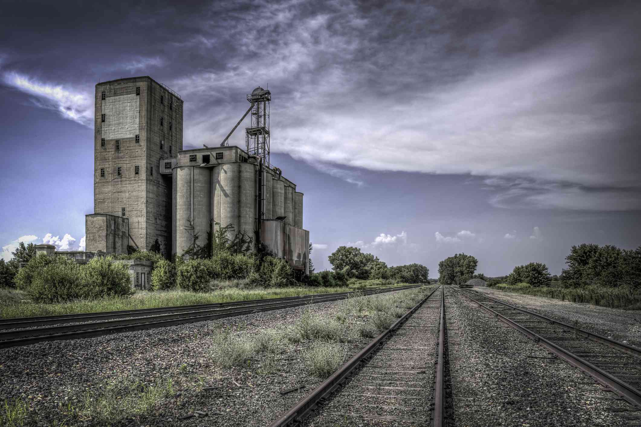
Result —
MULTIPOLYGON (((172 183, 158 166, 183 149, 183 100, 149 76, 98 83, 94 147, 94 216, 128 218, 129 245, 149 250, 158 239, 169 255, 172 183)), ((88 251, 103 234, 87 226, 88 251)))

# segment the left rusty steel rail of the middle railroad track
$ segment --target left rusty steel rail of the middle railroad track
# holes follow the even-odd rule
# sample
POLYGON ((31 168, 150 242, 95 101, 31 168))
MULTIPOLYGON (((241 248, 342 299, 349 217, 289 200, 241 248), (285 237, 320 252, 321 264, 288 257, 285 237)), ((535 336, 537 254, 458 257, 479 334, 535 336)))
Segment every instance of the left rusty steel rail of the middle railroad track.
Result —
MULTIPOLYGON (((440 287, 440 286, 439 286, 440 287)), ((285 427, 300 424, 309 413, 317 407, 320 400, 327 398, 333 391, 335 391, 360 364, 372 354, 387 337, 399 326, 401 326, 412 314, 419 309, 424 302, 426 302, 433 293, 438 290, 438 287, 431 291, 428 296, 420 300, 412 309, 406 312, 402 318, 394 322, 392 326, 385 332, 374 338, 363 350, 359 351, 354 357, 349 359, 342 367, 333 373, 327 380, 321 383, 318 387, 310 391, 303 399, 301 399, 294 407, 290 408, 285 414, 281 415, 276 421, 269 424, 269 427, 285 427)))

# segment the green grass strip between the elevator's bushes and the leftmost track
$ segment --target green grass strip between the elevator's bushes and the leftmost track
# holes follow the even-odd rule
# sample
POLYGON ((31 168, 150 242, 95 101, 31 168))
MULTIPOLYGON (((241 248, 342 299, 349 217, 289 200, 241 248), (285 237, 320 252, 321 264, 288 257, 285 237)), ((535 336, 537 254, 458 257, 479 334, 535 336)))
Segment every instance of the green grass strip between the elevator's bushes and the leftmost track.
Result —
POLYGON ((383 287, 408 286, 408 284, 385 284, 381 280, 351 281, 344 287, 280 287, 243 289, 233 282, 224 282, 217 291, 195 293, 187 291, 137 291, 133 296, 103 298, 99 300, 78 300, 74 302, 42 304, 33 303, 21 291, 0 289, 0 318, 22 318, 31 316, 56 316, 71 313, 95 313, 115 310, 157 309, 192 304, 211 304, 247 300, 267 300, 285 296, 328 294, 334 292, 380 289, 383 287))

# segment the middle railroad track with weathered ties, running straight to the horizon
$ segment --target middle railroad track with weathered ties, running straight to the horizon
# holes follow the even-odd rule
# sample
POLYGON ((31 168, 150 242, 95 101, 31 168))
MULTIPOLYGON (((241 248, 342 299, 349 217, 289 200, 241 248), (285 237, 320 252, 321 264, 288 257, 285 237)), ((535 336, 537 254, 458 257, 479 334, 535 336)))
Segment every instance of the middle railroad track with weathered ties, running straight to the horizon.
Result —
POLYGON ((435 427, 447 425, 444 288, 440 287, 440 298, 429 299, 437 290, 438 287, 270 427, 338 425, 337 422, 347 417, 416 425, 430 423, 435 427), (404 329, 409 330, 409 334, 403 334, 404 329), (417 339, 419 335, 425 339, 417 339), (435 353, 433 364, 429 355, 435 353), (390 364, 392 359, 402 361, 390 364), (385 370, 377 370, 381 368, 385 370), (433 380, 433 388, 429 380, 433 380), (368 392, 363 393, 363 389, 368 392), (385 398, 385 405, 381 405, 381 398, 385 398), (431 405, 426 404, 428 401, 431 405), (365 413, 354 414, 354 409, 365 413), (310 421, 306 418, 313 410, 317 412, 310 421))

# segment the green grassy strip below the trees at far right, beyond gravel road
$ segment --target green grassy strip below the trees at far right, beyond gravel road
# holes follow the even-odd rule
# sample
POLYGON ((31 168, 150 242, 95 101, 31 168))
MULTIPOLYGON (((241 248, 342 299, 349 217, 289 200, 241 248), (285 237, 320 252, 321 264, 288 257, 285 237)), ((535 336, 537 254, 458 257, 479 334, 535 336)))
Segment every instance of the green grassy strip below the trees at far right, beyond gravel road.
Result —
POLYGON ((586 286, 580 288, 532 287, 527 283, 498 284, 492 289, 517 294, 545 296, 561 301, 588 303, 612 309, 641 310, 641 291, 630 293, 623 287, 586 286))

